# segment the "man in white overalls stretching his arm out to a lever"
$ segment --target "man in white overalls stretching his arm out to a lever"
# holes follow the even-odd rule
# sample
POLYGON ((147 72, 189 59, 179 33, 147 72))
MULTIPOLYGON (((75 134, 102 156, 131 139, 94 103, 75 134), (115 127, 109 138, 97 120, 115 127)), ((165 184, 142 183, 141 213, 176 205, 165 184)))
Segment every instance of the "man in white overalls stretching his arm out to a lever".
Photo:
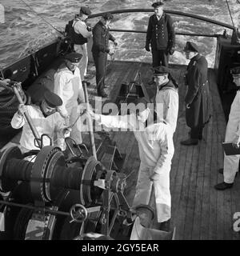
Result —
POLYGON ((138 98, 130 115, 94 114, 92 117, 108 128, 132 130, 138 141, 140 167, 133 207, 150 203, 151 190, 158 218, 158 229, 170 229, 170 169, 174 155, 173 131, 165 121, 156 120, 154 108, 146 98, 138 98), (146 127, 147 126, 147 127, 146 127))

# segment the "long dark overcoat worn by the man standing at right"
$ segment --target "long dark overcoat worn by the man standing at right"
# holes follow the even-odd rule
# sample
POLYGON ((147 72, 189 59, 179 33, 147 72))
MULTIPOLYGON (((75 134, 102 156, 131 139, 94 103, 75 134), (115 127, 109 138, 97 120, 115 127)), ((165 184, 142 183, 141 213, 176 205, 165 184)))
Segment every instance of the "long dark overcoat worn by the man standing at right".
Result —
POLYGON ((210 119, 209 86, 207 82, 207 62, 201 54, 190 60, 186 72, 188 86, 185 102, 190 106, 186 109, 186 125, 193 128, 204 126, 210 119))

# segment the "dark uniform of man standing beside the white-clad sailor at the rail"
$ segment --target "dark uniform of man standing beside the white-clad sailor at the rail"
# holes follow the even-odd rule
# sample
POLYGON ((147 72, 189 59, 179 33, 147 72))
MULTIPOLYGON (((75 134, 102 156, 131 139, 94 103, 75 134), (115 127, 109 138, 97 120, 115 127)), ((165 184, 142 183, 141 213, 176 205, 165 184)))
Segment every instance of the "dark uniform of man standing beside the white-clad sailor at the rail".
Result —
POLYGON ((100 96, 104 89, 107 54, 110 52, 109 40, 114 42, 115 38, 110 34, 109 28, 99 21, 93 29, 92 54, 96 66, 97 90, 100 96))

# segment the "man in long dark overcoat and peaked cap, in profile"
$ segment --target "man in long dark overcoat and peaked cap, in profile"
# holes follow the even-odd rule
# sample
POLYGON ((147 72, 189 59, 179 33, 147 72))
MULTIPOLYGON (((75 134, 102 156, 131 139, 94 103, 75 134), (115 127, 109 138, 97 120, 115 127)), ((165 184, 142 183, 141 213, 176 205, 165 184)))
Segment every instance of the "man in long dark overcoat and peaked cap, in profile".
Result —
POLYGON ((198 46, 194 42, 186 42, 184 48, 186 58, 190 62, 186 69, 186 86, 188 90, 185 97, 186 125, 191 128, 190 138, 182 141, 185 146, 198 145, 202 140, 202 130, 210 120, 208 113, 209 87, 207 81, 207 61, 199 54, 198 46))

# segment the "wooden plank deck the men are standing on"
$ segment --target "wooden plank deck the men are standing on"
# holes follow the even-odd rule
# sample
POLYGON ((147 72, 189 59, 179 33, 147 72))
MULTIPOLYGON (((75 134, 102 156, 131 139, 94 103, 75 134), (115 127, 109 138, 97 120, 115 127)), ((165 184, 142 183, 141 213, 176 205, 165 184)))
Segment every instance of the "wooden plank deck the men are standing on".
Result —
MULTIPOLYGON (((147 84, 151 78, 150 64, 135 62, 114 62, 110 66, 106 84, 110 85, 110 101, 114 102, 122 82, 136 78, 138 70, 142 81, 147 84)), ((189 128, 185 121, 184 97, 186 86, 183 75, 186 66, 172 66, 174 77, 179 84, 178 126, 174 134, 175 154, 170 172, 172 195, 172 221, 176 227, 176 239, 239 239, 233 229, 234 213, 240 211, 239 175, 233 189, 214 190, 214 185, 222 182, 218 169, 223 166, 223 151, 226 121, 215 80, 214 70, 209 70, 210 102, 213 117, 203 132, 203 140, 198 146, 182 146, 180 141, 187 137, 189 128)), ((94 84, 94 79, 92 81, 94 84)), ((93 87, 94 88, 94 87, 93 87)), ((146 86, 152 95, 154 90, 146 86)), ((139 156, 138 144, 132 132, 112 132, 111 138, 117 142, 121 153, 126 154, 123 172, 130 174, 127 179, 126 198, 132 203, 136 185, 139 156)))

